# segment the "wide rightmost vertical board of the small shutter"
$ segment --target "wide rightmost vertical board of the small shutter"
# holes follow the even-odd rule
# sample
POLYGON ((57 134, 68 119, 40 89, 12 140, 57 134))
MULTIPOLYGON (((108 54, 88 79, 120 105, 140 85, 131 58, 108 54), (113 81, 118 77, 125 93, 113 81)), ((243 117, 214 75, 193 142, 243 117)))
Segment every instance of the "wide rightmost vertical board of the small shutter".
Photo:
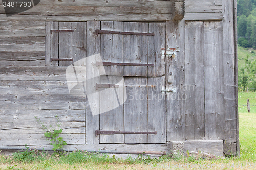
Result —
MULTIPOLYGON (((72 22, 71 28, 74 32, 71 37, 70 57, 73 58, 73 62, 76 62, 86 58, 86 22, 72 22)), ((76 66, 82 66, 84 63, 78 62, 78 64, 76 66)))

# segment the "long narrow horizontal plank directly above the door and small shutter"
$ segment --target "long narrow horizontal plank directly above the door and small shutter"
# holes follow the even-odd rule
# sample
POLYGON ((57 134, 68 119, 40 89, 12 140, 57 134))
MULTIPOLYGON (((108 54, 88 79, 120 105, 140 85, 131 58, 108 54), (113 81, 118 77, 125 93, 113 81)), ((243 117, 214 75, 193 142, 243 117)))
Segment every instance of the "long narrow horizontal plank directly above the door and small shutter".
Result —
MULTIPOLYGON (((84 10, 84 9, 82 9, 84 10)), ((8 20, 10 21, 29 21, 29 20, 37 20, 37 21, 95 21, 95 20, 101 20, 101 21, 166 21, 171 20, 170 14, 129 14, 129 15, 123 15, 123 14, 97 14, 97 15, 86 15, 86 16, 55 16, 55 15, 12 15, 8 17, 8 20)), ((0 14, 0 21, 6 21, 6 14, 0 14)), ((27 35, 26 33, 19 33, 17 35, 27 35)), ((29 33, 28 33, 29 34, 29 33)), ((40 34, 42 36, 45 35, 45 30, 40 31, 40 34)), ((14 34, 15 35, 15 34, 14 34)), ((32 34, 29 34, 32 35, 32 34)), ((33 35, 34 36, 34 33, 33 35)))

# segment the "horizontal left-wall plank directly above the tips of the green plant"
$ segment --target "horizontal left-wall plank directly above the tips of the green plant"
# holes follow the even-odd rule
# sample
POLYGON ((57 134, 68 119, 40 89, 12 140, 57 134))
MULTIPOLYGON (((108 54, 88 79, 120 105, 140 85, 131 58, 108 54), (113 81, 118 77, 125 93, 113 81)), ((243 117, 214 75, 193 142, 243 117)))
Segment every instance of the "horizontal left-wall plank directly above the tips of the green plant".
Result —
POLYGON ((82 110, 86 108, 86 96, 7 94, 0 96, 0 106, 6 110, 82 110))

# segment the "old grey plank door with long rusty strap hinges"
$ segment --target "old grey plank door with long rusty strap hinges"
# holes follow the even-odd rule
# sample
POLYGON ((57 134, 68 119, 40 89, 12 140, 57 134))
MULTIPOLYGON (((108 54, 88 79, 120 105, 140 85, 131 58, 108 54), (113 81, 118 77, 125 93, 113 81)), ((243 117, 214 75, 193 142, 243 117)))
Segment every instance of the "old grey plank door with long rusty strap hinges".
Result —
MULTIPOLYGON (((165 93, 161 91, 165 86, 165 56, 162 55, 162 48, 165 48, 165 23, 101 22, 100 25, 101 30, 154 33, 155 35, 129 33, 100 35, 102 62, 129 63, 130 65, 104 66, 109 78, 102 76, 100 83, 115 84, 113 76, 116 77, 114 78, 116 82, 124 77, 127 99, 124 95, 124 104, 121 103, 119 107, 100 114, 99 130, 156 131, 157 134, 100 134, 99 142, 166 143, 166 100, 165 93)), ((110 104, 108 99, 108 96, 100 95, 101 109, 105 109, 110 104)))

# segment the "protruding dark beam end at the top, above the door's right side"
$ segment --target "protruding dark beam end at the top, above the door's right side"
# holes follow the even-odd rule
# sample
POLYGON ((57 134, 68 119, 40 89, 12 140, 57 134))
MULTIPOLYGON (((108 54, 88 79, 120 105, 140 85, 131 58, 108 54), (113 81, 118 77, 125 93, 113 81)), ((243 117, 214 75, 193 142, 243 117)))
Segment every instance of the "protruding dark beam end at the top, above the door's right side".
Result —
POLYGON ((170 7, 172 9, 173 20, 182 20, 185 15, 185 1, 174 0, 170 7))

